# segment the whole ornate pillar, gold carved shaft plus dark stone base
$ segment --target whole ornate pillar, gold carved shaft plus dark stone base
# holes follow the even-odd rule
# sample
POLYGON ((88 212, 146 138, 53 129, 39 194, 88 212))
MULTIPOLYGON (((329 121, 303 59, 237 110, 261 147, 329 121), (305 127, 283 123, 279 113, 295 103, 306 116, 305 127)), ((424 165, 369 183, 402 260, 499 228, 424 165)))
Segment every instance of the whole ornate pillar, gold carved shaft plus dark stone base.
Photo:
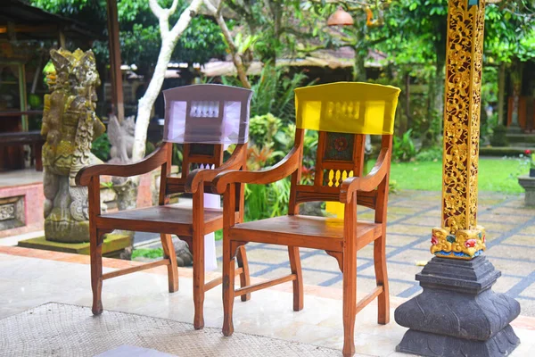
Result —
POLYGON ((501 273, 483 255, 477 225, 484 0, 449 0, 441 227, 435 255, 416 280, 424 291, 395 319, 408 329, 399 352, 424 356, 506 356, 520 343, 509 323, 514 299, 491 286, 501 273))

